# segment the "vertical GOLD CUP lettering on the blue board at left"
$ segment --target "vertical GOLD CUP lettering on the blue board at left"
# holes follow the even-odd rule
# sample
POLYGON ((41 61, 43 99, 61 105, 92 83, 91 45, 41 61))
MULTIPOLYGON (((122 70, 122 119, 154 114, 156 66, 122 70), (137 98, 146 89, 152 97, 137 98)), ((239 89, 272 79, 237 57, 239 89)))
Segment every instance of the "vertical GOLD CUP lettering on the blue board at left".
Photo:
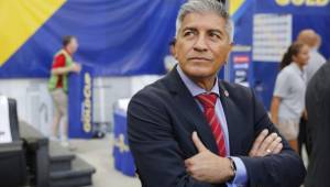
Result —
POLYGON ((84 76, 84 131, 91 131, 91 78, 89 73, 84 76))

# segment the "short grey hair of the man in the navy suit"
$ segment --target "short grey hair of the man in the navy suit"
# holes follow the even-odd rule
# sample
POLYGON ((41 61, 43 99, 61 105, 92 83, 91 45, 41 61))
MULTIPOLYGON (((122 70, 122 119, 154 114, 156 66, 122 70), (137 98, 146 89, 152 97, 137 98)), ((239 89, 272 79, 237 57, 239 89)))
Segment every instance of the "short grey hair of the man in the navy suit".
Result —
POLYGON ((183 20, 189 13, 202 13, 202 12, 215 12, 220 18, 223 18, 226 21, 226 32, 229 36, 230 42, 233 42, 233 23, 230 19, 226 7, 216 0, 189 0, 188 2, 184 3, 178 12, 176 19, 176 33, 175 37, 178 36, 179 30, 182 28, 183 20))

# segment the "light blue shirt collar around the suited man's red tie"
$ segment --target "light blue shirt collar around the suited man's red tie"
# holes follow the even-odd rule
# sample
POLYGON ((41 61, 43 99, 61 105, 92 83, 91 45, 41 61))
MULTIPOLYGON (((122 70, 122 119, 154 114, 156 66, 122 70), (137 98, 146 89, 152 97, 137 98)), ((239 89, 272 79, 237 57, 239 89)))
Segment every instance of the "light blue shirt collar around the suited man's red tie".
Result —
POLYGON ((188 88, 188 90, 190 91, 190 94, 196 97, 198 95, 201 94, 210 94, 213 92, 216 94, 218 97, 219 95, 219 81, 218 81, 218 77, 216 79, 216 84, 213 86, 213 88, 211 89, 211 91, 207 91, 204 88, 200 88, 198 85, 196 85, 180 68, 179 65, 176 66, 176 69, 180 76, 180 78, 183 79, 184 84, 186 85, 186 87, 188 88))

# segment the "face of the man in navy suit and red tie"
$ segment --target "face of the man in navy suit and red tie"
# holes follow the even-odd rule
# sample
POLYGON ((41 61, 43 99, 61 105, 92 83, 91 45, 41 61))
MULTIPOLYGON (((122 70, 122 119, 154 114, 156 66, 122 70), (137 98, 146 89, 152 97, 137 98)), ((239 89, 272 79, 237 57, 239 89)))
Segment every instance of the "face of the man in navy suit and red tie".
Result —
POLYGON ((190 78, 210 78, 226 63, 231 43, 226 20, 216 13, 189 13, 182 23, 175 57, 190 78))

